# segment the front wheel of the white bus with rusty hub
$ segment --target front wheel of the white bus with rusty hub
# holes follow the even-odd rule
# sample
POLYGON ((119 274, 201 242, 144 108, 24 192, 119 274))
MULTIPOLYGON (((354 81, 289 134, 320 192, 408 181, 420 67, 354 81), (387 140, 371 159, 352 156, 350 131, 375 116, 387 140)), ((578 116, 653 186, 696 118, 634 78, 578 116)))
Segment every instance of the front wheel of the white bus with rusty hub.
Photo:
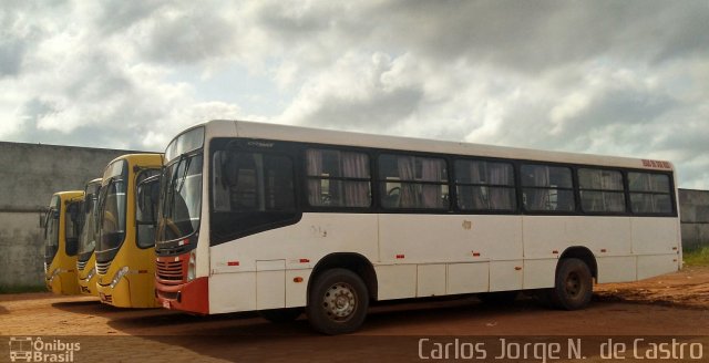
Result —
POLYGON ((330 269, 318 274, 310 287, 306 314, 316 331, 346 334, 362 325, 368 308, 364 281, 350 270, 330 269))

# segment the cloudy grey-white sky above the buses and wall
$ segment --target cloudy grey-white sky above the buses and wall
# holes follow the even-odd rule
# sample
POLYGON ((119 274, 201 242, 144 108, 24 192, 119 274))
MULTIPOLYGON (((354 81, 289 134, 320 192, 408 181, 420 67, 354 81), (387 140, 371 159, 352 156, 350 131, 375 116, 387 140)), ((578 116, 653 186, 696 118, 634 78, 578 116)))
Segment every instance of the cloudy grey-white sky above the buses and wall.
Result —
POLYGON ((3 0, 0 141, 237 118, 671 160, 709 189, 709 1, 3 0))

